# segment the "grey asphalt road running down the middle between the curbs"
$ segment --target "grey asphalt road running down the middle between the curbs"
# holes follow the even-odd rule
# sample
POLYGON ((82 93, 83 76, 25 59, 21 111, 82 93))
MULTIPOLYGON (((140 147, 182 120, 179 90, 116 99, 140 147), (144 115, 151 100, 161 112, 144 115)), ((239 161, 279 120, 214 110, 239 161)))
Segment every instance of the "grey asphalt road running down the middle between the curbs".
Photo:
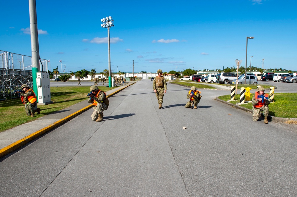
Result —
POLYGON ((103 122, 90 109, 2 160, 0 196, 296 196, 296 125, 214 100, 229 91, 185 108, 188 91, 158 109, 151 81, 129 86, 103 122))

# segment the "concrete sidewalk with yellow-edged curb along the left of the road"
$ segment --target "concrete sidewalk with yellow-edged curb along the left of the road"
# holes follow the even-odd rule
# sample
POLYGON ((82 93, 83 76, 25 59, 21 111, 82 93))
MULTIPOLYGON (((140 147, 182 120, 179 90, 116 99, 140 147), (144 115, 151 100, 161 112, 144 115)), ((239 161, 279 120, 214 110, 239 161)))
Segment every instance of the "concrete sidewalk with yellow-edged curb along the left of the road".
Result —
MULTIPOLYGON (((136 82, 127 83, 106 92, 110 97, 136 82)), ((26 145, 37 137, 49 132, 53 128, 71 120, 78 114, 90 109, 93 105, 88 100, 81 101, 53 114, 40 117, 32 122, 13 127, 0 133, 0 158, 26 145)))

